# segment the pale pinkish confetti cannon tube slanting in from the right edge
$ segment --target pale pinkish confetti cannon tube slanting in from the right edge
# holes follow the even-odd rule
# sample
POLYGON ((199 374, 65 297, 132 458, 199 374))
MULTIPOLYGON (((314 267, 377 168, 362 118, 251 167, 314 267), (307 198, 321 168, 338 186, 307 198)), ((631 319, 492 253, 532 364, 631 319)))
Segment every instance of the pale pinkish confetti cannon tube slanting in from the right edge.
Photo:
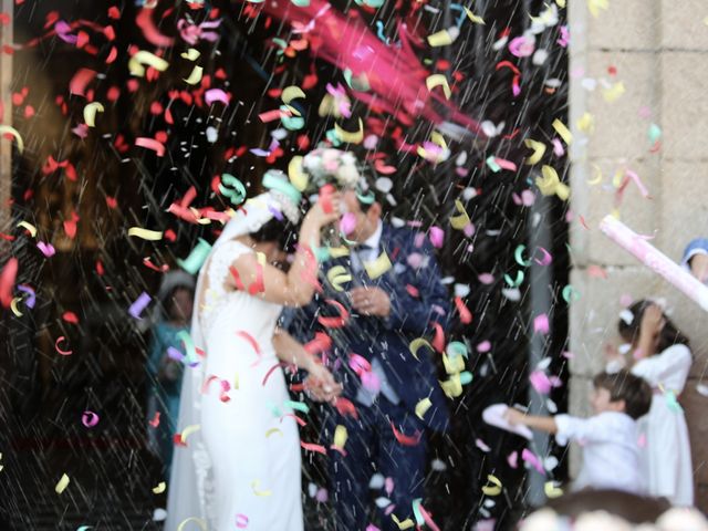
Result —
POLYGON ((634 254, 647 268, 683 291, 705 311, 708 311, 708 288, 629 227, 612 216, 605 216, 600 223, 600 230, 625 251, 634 254))

